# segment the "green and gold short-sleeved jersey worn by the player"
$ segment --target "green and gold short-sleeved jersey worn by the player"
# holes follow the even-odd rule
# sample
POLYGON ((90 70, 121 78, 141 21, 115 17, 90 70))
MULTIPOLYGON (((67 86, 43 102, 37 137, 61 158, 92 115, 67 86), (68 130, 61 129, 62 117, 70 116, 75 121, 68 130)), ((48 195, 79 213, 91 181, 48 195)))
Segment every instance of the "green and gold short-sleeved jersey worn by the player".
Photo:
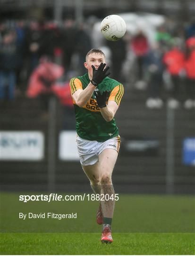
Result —
MULTIPOLYGON (((74 77, 70 80, 71 94, 81 89, 84 90, 89 84, 90 79, 88 73, 83 76, 74 77)), ((108 101, 115 101, 120 104, 123 96, 124 88, 121 83, 109 77, 98 84, 96 90, 111 91, 108 101)), ((91 99, 82 107, 76 105, 73 100, 76 114, 76 132, 79 137, 87 140, 106 141, 109 138, 119 135, 118 127, 115 119, 107 122, 100 112, 93 93, 91 99)))

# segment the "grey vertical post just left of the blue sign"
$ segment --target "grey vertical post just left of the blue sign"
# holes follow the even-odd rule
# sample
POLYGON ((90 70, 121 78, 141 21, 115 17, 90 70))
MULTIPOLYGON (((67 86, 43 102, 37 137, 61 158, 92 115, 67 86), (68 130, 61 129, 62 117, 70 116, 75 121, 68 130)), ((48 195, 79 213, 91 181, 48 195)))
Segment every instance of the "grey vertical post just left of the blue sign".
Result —
POLYGON ((166 193, 174 193, 174 122, 175 110, 167 106, 166 193))

